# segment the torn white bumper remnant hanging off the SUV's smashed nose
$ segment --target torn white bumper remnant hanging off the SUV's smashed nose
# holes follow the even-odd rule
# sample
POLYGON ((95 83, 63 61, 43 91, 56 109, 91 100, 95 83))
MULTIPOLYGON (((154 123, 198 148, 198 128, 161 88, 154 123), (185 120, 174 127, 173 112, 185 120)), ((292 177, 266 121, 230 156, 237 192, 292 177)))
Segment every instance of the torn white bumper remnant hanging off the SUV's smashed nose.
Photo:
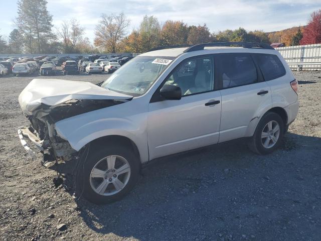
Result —
POLYGON ((25 148, 25 150, 27 151, 27 153, 32 157, 32 158, 36 158, 36 153, 35 151, 33 151, 30 147, 28 147, 26 140, 31 141, 36 148, 38 148, 38 152, 43 152, 46 153, 48 152, 48 150, 44 150, 43 148, 43 141, 40 140, 35 134, 32 133, 32 131, 30 130, 31 127, 19 127, 18 128, 18 135, 19 135, 19 139, 20 142, 22 144, 22 146, 25 148))

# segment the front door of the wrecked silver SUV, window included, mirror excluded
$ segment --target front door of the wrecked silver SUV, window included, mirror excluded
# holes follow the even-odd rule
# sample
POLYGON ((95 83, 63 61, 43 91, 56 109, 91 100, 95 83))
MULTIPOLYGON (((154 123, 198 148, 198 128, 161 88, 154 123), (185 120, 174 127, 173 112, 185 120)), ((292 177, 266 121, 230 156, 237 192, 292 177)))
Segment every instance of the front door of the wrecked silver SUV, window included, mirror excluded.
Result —
POLYGON ((214 90, 213 67, 213 58, 208 56, 184 60, 163 83, 180 86, 182 98, 151 99, 149 159, 218 143, 221 94, 214 90))

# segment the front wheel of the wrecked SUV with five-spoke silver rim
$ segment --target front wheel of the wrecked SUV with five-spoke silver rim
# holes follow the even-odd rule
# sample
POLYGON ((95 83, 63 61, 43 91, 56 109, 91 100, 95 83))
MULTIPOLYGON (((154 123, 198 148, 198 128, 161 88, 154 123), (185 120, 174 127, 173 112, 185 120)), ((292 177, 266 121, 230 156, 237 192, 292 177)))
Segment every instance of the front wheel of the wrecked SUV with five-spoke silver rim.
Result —
POLYGON ((138 180, 139 160, 126 146, 97 146, 84 162, 79 165, 76 181, 90 202, 106 204, 120 200, 138 180))

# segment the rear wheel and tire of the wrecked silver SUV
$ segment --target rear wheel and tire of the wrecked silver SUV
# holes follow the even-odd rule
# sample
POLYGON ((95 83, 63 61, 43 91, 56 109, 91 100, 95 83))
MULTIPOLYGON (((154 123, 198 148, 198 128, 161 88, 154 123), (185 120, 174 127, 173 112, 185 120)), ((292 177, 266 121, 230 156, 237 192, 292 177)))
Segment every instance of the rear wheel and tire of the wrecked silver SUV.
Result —
POLYGON ((283 119, 277 113, 267 112, 257 125, 248 147, 257 154, 269 154, 280 146, 283 136, 283 119))

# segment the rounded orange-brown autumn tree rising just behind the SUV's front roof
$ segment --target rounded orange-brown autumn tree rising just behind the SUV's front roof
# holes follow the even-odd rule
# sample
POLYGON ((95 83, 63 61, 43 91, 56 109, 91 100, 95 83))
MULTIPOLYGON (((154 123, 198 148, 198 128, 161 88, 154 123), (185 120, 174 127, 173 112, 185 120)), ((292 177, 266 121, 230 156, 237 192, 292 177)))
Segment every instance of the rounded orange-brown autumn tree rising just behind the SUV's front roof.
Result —
POLYGON ((182 21, 168 20, 161 31, 161 45, 184 45, 187 43, 189 29, 182 21))

